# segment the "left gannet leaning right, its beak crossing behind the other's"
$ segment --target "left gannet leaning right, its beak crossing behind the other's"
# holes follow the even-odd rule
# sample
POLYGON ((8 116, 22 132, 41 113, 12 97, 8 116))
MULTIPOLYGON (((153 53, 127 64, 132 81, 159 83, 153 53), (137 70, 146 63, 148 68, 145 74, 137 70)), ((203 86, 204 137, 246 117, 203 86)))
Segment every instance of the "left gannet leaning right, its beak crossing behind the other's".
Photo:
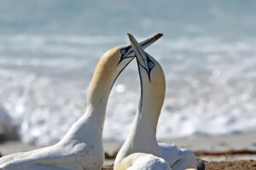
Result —
MULTIPOLYGON (((143 48, 161 34, 141 42, 143 48)), ((87 109, 57 144, 0 158, 1 170, 100 170, 104 155, 102 128, 113 83, 135 57, 131 45, 103 54, 90 82, 87 109)), ((54 127, 56 128, 56 127, 54 127)))

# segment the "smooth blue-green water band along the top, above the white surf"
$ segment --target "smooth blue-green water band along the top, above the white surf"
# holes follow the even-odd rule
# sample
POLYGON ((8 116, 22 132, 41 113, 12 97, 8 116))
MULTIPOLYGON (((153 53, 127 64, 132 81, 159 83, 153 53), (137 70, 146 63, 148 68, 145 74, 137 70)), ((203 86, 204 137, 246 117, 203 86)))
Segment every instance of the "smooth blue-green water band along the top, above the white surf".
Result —
POLYGON ((166 37, 254 37, 256 2, 4 0, 2 33, 120 36, 130 31, 166 37))

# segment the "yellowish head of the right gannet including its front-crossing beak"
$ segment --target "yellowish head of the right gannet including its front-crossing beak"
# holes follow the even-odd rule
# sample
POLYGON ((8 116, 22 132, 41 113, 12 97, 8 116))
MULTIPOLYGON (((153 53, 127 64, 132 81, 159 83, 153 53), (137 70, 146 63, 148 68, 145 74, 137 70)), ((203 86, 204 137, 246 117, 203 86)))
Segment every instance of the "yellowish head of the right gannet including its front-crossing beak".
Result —
POLYGON ((160 115, 166 94, 166 78, 161 65, 147 54, 137 40, 128 34, 137 57, 137 66, 141 80, 141 101, 139 109, 160 115))

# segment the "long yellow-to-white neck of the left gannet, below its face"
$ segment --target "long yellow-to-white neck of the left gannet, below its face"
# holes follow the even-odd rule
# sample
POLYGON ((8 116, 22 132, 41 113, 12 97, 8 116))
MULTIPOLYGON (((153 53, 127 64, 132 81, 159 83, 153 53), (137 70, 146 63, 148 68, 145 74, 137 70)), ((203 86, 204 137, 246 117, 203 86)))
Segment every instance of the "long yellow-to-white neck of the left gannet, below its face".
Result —
POLYGON ((111 72, 104 71, 98 64, 87 93, 87 109, 84 116, 73 123, 62 141, 102 141, 102 129, 108 105, 108 96, 114 82, 111 72), (94 139, 92 139, 94 138, 94 139))

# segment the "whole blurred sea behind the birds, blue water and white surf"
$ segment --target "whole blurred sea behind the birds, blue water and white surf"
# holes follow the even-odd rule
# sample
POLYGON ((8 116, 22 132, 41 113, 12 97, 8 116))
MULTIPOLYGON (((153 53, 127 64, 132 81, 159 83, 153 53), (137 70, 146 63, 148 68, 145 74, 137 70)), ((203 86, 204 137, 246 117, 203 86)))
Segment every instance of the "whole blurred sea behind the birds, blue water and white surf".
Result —
MULTIPOLYGON (((34 144, 61 139, 86 107, 109 48, 165 34, 149 54, 166 74, 160 139, 256 128, 256 1, 3 0, 0 133, 18 127, 34 144)), ((137 110, 136 61, 115 83, 104 139, 123 140, 137 110)))

